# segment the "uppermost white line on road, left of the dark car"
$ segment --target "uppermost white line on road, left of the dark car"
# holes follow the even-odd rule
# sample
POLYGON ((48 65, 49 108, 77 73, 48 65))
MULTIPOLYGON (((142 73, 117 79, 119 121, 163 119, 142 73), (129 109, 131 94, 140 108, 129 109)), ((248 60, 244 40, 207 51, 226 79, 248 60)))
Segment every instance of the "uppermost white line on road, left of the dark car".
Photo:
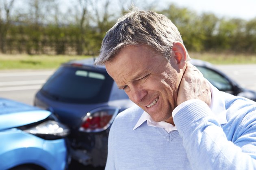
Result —
POLYGON ((1 72, 0 77, 20 77, 20 76, 41 76, 52 75, 53 71, 40 71, 40 72, 1 72))

